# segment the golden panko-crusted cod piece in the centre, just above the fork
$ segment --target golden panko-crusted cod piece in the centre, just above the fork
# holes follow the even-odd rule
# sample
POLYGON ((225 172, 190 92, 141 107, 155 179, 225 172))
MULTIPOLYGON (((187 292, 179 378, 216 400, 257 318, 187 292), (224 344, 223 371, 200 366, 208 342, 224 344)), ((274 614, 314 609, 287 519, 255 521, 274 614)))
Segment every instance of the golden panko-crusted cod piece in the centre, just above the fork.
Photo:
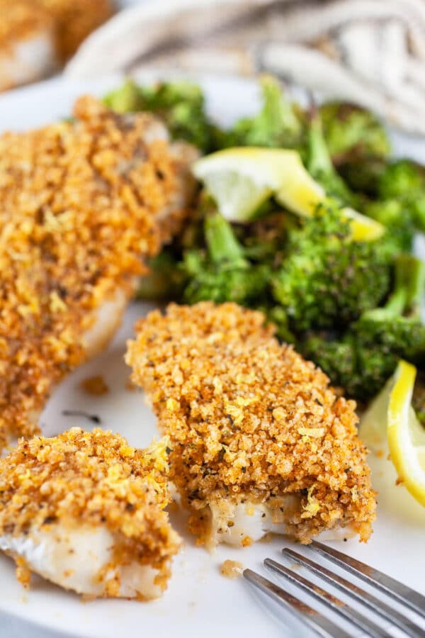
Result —
POLYGON ((171 304, 128 343, 132 379, 170 437, 170 481, 191 530, 210 547, 266 532, 367 541, 376 503, 355 403, 264 319, 234 303, 171 304))

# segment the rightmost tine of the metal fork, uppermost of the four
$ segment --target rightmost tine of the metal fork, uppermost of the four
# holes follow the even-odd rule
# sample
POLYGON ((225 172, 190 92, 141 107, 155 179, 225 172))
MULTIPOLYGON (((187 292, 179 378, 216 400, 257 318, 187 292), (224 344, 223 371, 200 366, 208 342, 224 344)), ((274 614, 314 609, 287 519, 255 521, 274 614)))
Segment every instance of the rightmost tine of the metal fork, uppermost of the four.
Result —
POLYGON ((351 556, 347 556, 347 554, 343 554, 342 552, 338 552, 332 547, 327 547, 327 545, 317 541, 313 541, 311 547, 339 567, 343 567, 352 573, 353 576, 361 578, 362 581, 365 581, 368 585, 379 589, 399 603, 407 605, 409 609, 414 610, 414 612, 421 615, 422 618, 425 618, 425 596, 417 591, 396 581, 395 578, 387 576, 386 573, 382 573, 382 571, 378 569, 365 565, 361 563, 361 561, 353 559, 351 556))

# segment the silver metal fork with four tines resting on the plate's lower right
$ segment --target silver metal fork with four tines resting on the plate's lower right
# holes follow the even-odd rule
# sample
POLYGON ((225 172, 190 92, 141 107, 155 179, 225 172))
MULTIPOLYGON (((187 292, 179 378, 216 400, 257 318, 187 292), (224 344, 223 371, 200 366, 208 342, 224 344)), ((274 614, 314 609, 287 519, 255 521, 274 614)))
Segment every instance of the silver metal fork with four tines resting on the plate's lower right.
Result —
MULTIPOLYGON (((285 578, 297 588, 318 600, 329 610, 339 615, 352 627, 361 629, 368 636, 373 638, 387 637, 389 623, 392 627, 402 629, 402 631, 408 636, 414 638, 425 638, 425 629, 418 624, 418 620, 413 620, 410 616, 411 612, 415 612, 416 615, 425 620, 425 596, 407 587, 403 583, 396 581, 395 578, 387 576, 387 574, 374 569, 361 561, 351 558, 342 552, 338 552, 336 549, 327 547, 319 542, 312 542, 310 545, 305 546, 309 552, 320 554, 324 558, 332 561, 337 566, 345 569, 351 575, 356 576, 365 581, 369 586, 372 586, 380 593, 383 593, 385 597, 392 598, 399 603, 401 611, 397 611, 383 600, 376 598, 368 591, 364 591, 358 585, 351 583, 338 576, 336 573, 327 569, 319 563, 316 563, 302 554, 293 552, 292 549, 283 549, 283 558, 287 563, 297 563, 302 565, 308 571, 314 573, 315 576, 319 576, 323 581, 326 581, 334 588, 348 595, 357 603, 361 603, 366 611, 373 612, 373 615, 364 615, 356 609, 353 609, 348 603, 344 603, 339 598, 336 598, 333 594, 317 586, 315 583, 308 581, 299 573, 288 569, 288 567, 273 561, 272 559, 266 559, 264 565, 271 569, 279 577, 285 578), (379 620, 385 620, 387 623, 385 626, 379 625, 379 620)), ((263 593, 268 595, 273 600, 276 600, 280 605, 297 618, 303 625, 312 629, 319 636, 324 638, 351 638, 353 634, 344 631, 333 620, 310 607, 307 603, 302 602, 295 596, 291 595, 276 583, 269 581, 267 578, 263 578, 259 573, 252 571, 251 569, 244 570, 244 578, 259 588, 263 593)), ((390 603, 390 600, 388 601, 390 603)))

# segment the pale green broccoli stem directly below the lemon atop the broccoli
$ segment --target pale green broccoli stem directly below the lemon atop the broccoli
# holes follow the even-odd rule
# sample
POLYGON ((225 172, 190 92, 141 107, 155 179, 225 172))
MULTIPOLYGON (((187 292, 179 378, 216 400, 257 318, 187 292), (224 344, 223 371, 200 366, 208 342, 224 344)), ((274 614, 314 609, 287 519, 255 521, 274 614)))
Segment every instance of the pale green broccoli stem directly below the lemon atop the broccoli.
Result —
POLYGON ((231 225, 220 213, 212 213, 205 218, 205 241, 212 262, 222 262, 244 266, 244 249, 234 236, 231 225))

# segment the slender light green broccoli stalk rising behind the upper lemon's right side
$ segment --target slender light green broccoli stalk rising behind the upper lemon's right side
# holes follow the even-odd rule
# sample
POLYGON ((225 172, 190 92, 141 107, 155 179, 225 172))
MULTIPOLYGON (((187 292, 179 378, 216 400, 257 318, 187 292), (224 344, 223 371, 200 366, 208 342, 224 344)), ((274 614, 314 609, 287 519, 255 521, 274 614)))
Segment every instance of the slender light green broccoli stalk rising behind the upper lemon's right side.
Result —
POLYGON ((327 195, 342 206, 356 208, 358 201, 346 186, 344 179, 336 172, 323 136, 322 120, 317 110, 312 112, 308 135, 308 172, 319 182, 327 195))

